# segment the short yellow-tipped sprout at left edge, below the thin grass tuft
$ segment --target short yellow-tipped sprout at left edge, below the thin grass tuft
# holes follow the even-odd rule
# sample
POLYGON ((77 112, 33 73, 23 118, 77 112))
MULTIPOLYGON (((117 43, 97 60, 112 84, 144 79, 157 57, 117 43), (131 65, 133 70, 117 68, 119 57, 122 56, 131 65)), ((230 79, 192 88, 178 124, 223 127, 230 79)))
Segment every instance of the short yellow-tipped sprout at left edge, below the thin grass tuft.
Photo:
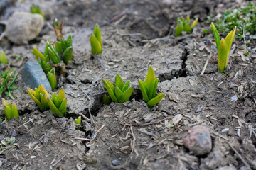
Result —
POLYGON ((1 98, 1 102, 4 108, 4 115, 7 120, 11 120, 11 118, 18 118, 18 109, 16 102, 8 103, 4 98, 1 98))

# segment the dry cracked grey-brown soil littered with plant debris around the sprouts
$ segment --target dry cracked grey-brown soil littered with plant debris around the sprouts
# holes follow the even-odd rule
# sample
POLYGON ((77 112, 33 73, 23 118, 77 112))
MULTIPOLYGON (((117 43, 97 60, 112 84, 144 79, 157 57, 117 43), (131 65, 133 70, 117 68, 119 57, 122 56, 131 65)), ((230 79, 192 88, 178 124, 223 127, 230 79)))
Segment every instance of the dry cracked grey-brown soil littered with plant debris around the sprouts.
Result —
POLYGON ((0 128, 2 147, 6 137, 16 139, 11 148, 1 149, 0 169, 256 169, 255 47, 248 45, 250 55, 243 61, 238 55, 243 41, 234 40, 228 69, 220 74, 213 34, 202 31, 210 25, 207 16, 246 1, 26 0, 8 6, 1 20, 14 11, 29 11, 33 3, 46 13, 38 38, 20 46, 6 38, 0 42, 19 73, 15 86, 20 87, 14 91, 20 117, 2 123, 9 132, 0 128), (190 35, 175 38, 176 18, 187 15, 199 18, 198 25, 190 35), (57 91, 63 86, 68 97, 67 118, 40 111, 21 79, 25 62, 36 61, 33 47, 43 52, 46 40, 55 40, 54 18, 65 21, 65 38, 73 35, 73 61, 65 77, 58 75, 57 91), (103 50, 92 56, 95 23, 103 50), (159 78, 157 93, 165 94, 151 109, 138 85, 149 65, 159 78), (102 79, 114 82, 116 74, 130 80, 134 92, 126 103, 105 105, 102 79), (87 117, 80 130, 73 121, 79 115, 87 117), (177 115, 181 120, 174 121, 177 115), (199 124, 210 128, 213 149, 196 157, 183 139, 199 124))

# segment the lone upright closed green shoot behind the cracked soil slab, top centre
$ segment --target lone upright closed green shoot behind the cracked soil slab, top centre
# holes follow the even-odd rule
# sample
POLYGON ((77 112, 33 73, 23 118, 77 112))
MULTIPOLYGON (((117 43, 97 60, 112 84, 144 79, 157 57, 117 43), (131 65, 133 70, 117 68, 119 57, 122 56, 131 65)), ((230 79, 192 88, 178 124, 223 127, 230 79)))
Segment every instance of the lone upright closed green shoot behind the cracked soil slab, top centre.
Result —
POLYGON ((100 26, 95 25, 93 33, 90 35, 90 44, 92 47, 92 55, 99 55, 102 53, 102 38, 100 34, 100 26))

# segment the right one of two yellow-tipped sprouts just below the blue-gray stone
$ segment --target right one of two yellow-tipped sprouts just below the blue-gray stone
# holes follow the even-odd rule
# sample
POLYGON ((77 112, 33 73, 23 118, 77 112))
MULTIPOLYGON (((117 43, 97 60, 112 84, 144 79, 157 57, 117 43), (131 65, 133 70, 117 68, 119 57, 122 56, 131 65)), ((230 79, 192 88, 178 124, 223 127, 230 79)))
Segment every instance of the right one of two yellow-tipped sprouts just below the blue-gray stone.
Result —
POLYGON ((48 97, 47 101, 53 115, 65 117, 67 112, 67 98, 63 88, 60 89, 57 95, 53 93, 52 98, 48 97))

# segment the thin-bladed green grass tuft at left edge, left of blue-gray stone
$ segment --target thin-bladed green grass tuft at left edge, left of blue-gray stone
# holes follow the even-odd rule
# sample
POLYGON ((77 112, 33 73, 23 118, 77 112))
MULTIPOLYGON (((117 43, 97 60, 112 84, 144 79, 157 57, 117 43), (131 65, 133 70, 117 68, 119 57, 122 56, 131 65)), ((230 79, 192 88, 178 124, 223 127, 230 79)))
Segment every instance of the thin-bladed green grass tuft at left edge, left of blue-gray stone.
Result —
POLYGON ((1 71, 1 78, 0 78, 0 96, 2 96, 3 93, 6 94, 6 96, 10 97, 14 100, 14 96, 12 96, 12 91, 18 89, 18 87, 13 87, 17 77, 18 73, 16 74, 16 70, 11 69, 10 71, 9 67, 7 67, 6 71, 1 71))

